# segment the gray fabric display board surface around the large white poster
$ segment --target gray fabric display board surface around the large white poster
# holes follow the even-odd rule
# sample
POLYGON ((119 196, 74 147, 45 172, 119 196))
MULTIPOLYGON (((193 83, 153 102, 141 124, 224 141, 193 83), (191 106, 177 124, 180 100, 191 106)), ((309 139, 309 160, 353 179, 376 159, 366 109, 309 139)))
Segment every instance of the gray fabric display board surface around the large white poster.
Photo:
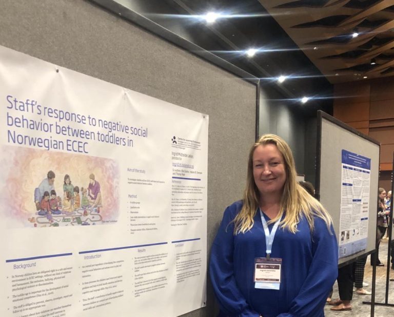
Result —
MULTIPOLYGON (((0 45, 207 113, 210 248, 224 208, 242 195, 254 85, 83 0, 3 0, 0 45)), ((185 316, 211 317, 213 302, 208 281, 207 308, 185 316)))

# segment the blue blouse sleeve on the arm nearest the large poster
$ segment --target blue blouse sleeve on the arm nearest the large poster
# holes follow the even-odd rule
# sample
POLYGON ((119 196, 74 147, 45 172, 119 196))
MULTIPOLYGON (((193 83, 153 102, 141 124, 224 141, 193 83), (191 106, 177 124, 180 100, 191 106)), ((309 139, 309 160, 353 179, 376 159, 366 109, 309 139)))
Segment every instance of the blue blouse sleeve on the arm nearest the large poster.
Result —
POLYGON ((234 224, 231 221, 236 214, 235 209, 234 205, 227 207, 213 241, 210 278, 221 311, 228 317, 259 317, 260 314, 249 307, 233 275, 234 224))

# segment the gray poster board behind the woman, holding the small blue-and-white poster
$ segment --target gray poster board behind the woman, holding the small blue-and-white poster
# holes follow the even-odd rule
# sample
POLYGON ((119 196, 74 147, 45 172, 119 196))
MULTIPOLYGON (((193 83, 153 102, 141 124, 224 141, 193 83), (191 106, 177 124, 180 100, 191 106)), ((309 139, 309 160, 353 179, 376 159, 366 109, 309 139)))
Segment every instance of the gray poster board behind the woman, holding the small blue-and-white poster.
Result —
POLYGON ((319 120, 317 194, 332 216, 343 264, 375 250, 380 146, 325 113, 319 120))

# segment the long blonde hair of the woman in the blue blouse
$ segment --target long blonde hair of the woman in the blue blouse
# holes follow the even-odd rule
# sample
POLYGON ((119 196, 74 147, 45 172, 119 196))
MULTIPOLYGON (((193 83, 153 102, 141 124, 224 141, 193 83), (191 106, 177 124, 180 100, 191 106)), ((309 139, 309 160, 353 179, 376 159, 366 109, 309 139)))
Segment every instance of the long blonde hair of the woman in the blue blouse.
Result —
POLYGON ((328 230, 332 224, 331 216, 326 209, 314 197, 312 197, 295 179, 297 175, 295 171, 295 163, 293 154, 288 144, 278 135, 265 134, 259 138, 259 141, 253 144, 249 152, 248 171, 246 179, 246 188, 243 197, 243 206, 241 211, 235 216, 234 234, 245 233, 253 227, 255 216, 260 206, 260 192, 254 183, 253 177, 253 153, 260 145, 273 144, 281 152, 284 160, 286 181, 283 187, 283 194, 280 203, 280 211, 278 215, 269 223, 276 222, 282 218, 286 211, 284 219, 280 222, 282 228, 288 229, 290 232, 297 232, 297 225, 300 217, 305 216, 308 221, 310 230, 313 230, 313 217, 320 217, 327 225, 328 230))

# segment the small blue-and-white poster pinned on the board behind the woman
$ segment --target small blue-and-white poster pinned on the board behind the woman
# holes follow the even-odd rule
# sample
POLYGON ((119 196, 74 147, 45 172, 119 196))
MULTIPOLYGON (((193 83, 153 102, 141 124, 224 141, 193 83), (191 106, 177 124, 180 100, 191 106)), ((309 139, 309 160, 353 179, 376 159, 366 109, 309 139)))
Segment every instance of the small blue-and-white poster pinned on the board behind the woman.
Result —
POLYGON ((367 246, 370 179, 371 159, 342 150, 339 258, 367 246))

